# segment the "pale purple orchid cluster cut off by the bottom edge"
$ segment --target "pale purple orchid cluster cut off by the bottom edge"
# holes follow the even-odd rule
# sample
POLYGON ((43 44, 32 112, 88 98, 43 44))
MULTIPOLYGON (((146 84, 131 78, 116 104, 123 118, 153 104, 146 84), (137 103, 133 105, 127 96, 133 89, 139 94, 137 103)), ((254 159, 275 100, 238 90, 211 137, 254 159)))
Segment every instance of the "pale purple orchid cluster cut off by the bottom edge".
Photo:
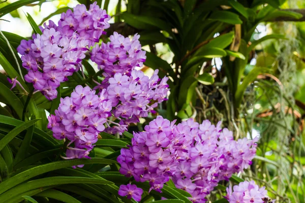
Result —
POLYGON ((267 196, 267 190, 265 187, 259 187, 254 181, 245 181, 227 188, 226 199, 230 203, 272 203, 275 200, 271 200, 267 196))

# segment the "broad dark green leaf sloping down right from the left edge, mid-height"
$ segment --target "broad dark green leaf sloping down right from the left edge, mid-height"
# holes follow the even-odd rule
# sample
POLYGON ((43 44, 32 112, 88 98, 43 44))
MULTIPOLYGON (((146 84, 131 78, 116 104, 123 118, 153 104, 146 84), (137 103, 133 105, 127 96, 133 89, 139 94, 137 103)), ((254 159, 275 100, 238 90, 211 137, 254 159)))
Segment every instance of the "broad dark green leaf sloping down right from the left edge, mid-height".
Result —
POLYGON ((2 82, 0 82, 0 89, 0 95, 7 101, 6 105, 11 106, 18 115, 19 119, 21 119, 23 104, 21 103, 20 99, 2 82))

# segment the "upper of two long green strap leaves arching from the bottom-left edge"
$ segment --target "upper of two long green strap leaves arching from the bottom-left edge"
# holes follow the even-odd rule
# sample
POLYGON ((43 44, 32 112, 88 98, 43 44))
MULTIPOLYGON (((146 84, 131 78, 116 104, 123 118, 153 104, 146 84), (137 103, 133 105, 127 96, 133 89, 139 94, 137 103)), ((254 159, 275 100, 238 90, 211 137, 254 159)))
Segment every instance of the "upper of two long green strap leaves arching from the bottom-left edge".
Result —
POLYGON ((24 171, 16 176, 0 183, 0 194, 9 190, 10 188, 22 183, 28 179, 31 179, 40 174, 44 174, 50 171, 54 171, 60 168, 71 167, 73 165, 81 164, 91 164, 91 163, 101 163, 101 164, 112 164, 115 163, 114 160, 104 159, 104 158, 92 158, 92 159, 74 159, 74 160, 65 160, 65 161, 55 161, 52 163, 47 163, 33 167, 27 171, 24 171))

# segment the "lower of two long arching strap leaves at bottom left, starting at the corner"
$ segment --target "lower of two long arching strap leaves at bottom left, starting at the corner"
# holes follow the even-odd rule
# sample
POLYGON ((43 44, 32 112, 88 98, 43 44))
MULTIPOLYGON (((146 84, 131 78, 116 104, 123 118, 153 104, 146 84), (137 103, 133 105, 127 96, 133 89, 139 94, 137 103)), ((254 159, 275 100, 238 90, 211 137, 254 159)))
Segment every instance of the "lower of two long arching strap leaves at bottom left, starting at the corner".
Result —
POLYGON ((26 191, 31 191, 41 187, 47 187, 51 185, 63 185, 63 184, 77 184, 77 183, 89 183, 89 184, 111 184, 110 181, 95 179, 95 178, 83 178, 83 177, 66 177, 66 176, 56 176, 42 178, 34 181, 29 181, 27 183, 22 183, 2 195, 0 195, 0 203, 4 203, 7 200, 22 194, 26 191))

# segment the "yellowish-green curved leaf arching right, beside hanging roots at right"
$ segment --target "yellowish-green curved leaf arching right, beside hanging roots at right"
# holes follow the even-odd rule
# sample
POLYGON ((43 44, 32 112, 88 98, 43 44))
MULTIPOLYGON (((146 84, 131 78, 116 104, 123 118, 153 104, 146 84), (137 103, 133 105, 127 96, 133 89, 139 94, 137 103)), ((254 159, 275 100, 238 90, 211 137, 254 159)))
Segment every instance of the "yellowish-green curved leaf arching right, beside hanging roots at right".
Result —
POLYGON ((269 71, 270 70, 265 67, 256 66, 245 78, 243 78, 242 83, 237 86, 237 90, 235 92, 236 105, 240 105, 243 93, 246 91, 249 83, 253 82, 259 74, 267 73, 269 71))

